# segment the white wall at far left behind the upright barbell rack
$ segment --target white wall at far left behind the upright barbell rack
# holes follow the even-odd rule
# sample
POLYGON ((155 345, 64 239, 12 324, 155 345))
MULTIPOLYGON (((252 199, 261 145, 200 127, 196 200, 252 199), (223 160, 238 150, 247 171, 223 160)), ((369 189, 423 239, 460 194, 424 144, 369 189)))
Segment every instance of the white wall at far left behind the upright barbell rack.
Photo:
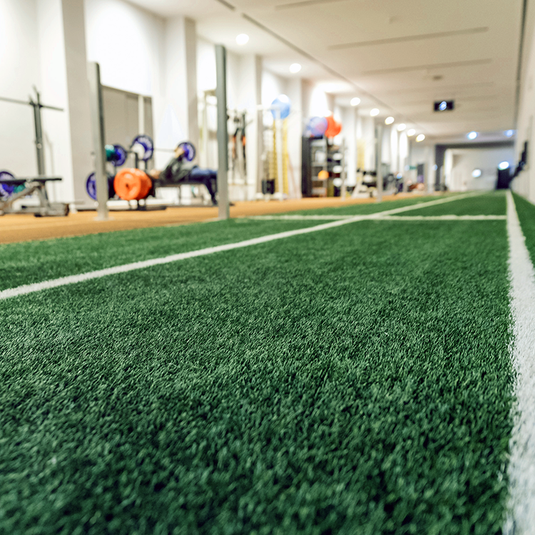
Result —
MULTIPOLYGON (((31 87, 41 86, 36 9, 36 0, 0 0, 0 96, 27 101, 31 87)), ((0 170, 34 175, 33 109, 0 101, 0 116, 0 170)))

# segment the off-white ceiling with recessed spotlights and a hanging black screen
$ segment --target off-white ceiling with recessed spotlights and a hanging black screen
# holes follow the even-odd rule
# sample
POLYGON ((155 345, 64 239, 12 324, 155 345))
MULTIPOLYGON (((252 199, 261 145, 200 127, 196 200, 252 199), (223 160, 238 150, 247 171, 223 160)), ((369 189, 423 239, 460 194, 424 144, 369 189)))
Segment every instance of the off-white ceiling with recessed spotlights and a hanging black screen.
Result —
POLYGON ((361 113, 377 107, 436 140, 474 130, 497 141, 514 128, 523 0, 130 1, 190 16, 205 39, 324 82, 338 100, 359 96, 361 113), (240 47, 241 33, 250 41, 240 47), (434 112, 438 100, 454 111, 434 112))

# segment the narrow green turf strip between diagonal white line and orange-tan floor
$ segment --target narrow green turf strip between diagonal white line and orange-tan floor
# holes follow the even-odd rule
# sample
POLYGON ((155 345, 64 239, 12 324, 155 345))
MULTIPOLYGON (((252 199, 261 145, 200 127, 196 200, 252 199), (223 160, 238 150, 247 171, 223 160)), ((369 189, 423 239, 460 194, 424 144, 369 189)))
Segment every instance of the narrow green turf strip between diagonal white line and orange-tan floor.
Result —
MULTIPOLYGON (((427 200, 433 198, 427 198, 427 200)), ((347 207, 350 213, 375 213, 422 202, 423 198, 402 199, 381 204, 347 207)), ((340 211, 342 210, 342 211, 340 211)), ((305 213, 317 213, 311 210, 305 213)), ((329 213, 345 213, 329 209, 329 213)), ((74 238, 58 238, 0 245, 0 290, 31 282, 75 275, 138 260, 184 253, 223 243, 306 228, 317 221, 262 221, 236 219, 158 228, 125 230, 74 238)))

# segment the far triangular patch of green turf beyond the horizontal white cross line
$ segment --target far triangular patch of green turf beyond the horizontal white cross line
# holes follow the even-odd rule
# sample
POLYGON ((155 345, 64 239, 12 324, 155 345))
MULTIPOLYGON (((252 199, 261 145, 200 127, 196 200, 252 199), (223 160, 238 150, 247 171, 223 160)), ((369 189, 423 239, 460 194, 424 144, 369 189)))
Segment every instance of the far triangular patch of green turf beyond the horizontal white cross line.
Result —
POLYGON ((451 203, 409 210, 399 215, 505 215, 506 200, 503 191, 486 193, 451 203))

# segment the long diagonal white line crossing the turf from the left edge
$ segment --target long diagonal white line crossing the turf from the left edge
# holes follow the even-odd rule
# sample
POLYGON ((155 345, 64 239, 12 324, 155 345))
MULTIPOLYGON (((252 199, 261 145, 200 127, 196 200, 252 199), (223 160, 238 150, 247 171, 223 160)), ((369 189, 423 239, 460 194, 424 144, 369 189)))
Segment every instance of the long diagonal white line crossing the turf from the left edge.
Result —
MULTIPOLYGON (((424 206, 433 206, 442 203, 449 203, 452 200, 471 197, 473 195, 474 194, 459 195, 452 198, 431 200, 427 203, 419 204, 418 208, 423 208, 424 206)), ((392 210, 385 210, 384 212, 378 212, 371 215, 355 215, 347 219, 331 221, 330 223, 323 223, 322 225, 316 225, 315 227, 300 228, 297 230, 287 230, 283 233, 260 236, 260 238, 252 238, 251 240, 245 240, 237 243, 227 243, 226 245, 216 245, 215 247, 208 247, 205 249, 190 251, 188 253, 178 253, 177 255, 169 255, 163 258, 152 258, 151 260, 141 260, 140 262, 133 262, 131 264, 117 265, 115 267, 106 267, 103 270, 90 271, 88 273, 81 273, 80 275, 68 275, 67 277, 60 277, 58 279, 44 280, 43 282, 34 282, 33 284, 18 286, 16 288, 8 288, 7 290, 0 291, 0 300, 9 299, 9 297, 17 297, 19 295, 25 295, 33 292, 40 292, 41 290, 49 290, 51 288, 57 288, 59 286, 65 286, 68 284, 76 284, 76 282, 83 282, 85 280, 100 279, 101 277, 107 277, 108 275, 116 275, 117 273, 126 273, 128 271, 141 270, 145 267, 152 267, 153 265, 169 264, 172 262, 178 262, 179 260, 195 258, 197 256, 211 255, 213 253, 221 253, 223 251, 249 247, 250 245, 258 245, 259 243, 267 243, 273 240, 281 240, 282 238, 290 238, 292 236, 297 236, 300 234, 314 233, 318 230, 327 230, 328 228, 340 227, 341 225, 347 225, 348 223, 355 223, 357 221, 380 219, 384 215, 405 212, 407 210, 414 210, 414 205, 410 205, 408 207, 403 206, 402 208, 394 208, 392 210)))

